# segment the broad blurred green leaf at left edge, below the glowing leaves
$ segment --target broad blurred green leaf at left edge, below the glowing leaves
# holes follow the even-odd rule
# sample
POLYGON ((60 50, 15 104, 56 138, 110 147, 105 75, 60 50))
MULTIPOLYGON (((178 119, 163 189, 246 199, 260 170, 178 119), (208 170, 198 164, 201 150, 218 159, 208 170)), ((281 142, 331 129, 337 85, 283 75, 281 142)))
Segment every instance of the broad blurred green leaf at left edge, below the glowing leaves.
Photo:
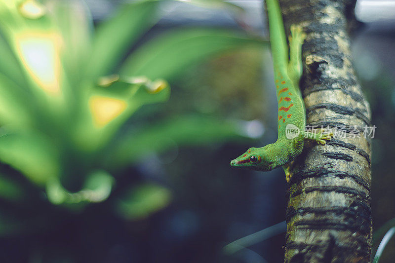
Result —
POLYGON ((0 137, 0 161, 43 185, 59 176, 58 152, 43 135, 33 132, 9 133, 0 137))

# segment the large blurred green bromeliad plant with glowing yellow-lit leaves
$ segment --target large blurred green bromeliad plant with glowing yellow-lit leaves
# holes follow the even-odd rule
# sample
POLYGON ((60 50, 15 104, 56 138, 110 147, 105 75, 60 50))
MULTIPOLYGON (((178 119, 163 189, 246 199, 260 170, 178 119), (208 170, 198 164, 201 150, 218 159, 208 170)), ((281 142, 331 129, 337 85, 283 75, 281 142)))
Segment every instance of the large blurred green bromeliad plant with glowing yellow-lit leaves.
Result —
MULTIPOLYGON (((159 4, 123 4, 94 30, 78 0, 0 2, 0 161, 45 189, 52 203, 103 201, 115 171, 147 149, 165 149, 151 144, 155 136, 188 143, 191 135, 201 134, 201 118, 179 118, 177 128, 165 123, 139 134, 122 135, 119 129, 142 106, 165 101, 167 81, 186 66, 220 51, 265 44, 229 30, 178 29, 137 47, 120 64, 158 22, 159 4), (196 129, 182 132, 191 125, 196 129), (115 137, 124 143, 114 143, 115 137), (79 189, 66 189, 76 182, 79 189)), ((203 122, 212 130, 207 141, 235 136, 235 127, 223 121, 203 122)), ((2 186, 9 198, 10 189, 18 192, 15 182, 0 175, 2 186)))

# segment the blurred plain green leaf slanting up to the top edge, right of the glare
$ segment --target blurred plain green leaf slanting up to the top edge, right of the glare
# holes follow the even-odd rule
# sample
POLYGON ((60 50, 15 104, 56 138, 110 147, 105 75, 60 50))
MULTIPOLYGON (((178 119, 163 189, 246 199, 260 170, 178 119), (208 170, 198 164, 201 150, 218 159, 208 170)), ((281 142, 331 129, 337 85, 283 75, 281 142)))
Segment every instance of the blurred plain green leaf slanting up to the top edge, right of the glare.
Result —
POLYGON ((131 45, 156 23, 157 6, 157 1, 122 4, 113 17, 99 25, 87 63, 89 77, 111 73, 131 45))

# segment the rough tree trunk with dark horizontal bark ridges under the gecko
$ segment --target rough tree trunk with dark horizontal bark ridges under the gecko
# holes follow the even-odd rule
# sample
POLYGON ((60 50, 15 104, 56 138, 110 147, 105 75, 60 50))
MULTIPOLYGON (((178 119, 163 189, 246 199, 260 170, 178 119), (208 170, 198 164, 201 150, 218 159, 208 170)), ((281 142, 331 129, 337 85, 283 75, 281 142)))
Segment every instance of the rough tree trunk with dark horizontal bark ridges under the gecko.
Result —
MULTIPOLYGON (((301 80, 307 124, 335 133, 295 161, 288 185, 286 263, 370 262, 370 110, 350 53, 347 0, 280 0, 286 32, 307 34, 301 80), (345 135, 345 136, 344 136, 345 135)), ((351 10, 351 12, 350 12, 351 10)))

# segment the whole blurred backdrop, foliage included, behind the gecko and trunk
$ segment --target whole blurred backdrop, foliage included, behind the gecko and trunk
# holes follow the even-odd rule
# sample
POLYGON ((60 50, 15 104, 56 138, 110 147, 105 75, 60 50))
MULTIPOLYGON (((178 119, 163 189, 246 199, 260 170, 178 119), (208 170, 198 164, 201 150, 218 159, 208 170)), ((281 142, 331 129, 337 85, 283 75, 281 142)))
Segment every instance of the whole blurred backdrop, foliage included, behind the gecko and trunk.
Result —
MULTIPOLYGON (((276 139, 263 23, 229 2, 188 2, 0 3, 1 262, 282 261, 281 224, 223 251, 284 220, 283 172, 229 165, 276 139), (180 6, 194 19, 177 20, 180 6)), ((395 217, 394 28, 367 28, 353 53, 378 127, 378 229, 395 217)))

